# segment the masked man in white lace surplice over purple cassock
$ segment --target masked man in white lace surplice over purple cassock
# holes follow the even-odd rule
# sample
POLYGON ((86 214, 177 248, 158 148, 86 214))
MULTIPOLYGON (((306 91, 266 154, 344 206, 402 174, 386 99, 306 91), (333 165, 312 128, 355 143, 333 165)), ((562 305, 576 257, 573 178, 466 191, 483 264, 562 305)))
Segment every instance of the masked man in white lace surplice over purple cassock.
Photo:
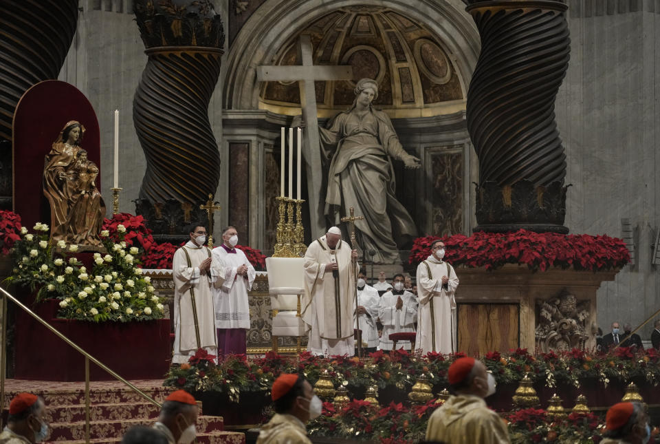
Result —
POLYGON ((222 241, 221 246, 213 249, 225 279, 214 291, 218 350, 220 355, 245 354, 250 330, 248 291, 252 289, 256 272, 245 253, 236 248, 239 236, 233 226, 223 229, 222 241))

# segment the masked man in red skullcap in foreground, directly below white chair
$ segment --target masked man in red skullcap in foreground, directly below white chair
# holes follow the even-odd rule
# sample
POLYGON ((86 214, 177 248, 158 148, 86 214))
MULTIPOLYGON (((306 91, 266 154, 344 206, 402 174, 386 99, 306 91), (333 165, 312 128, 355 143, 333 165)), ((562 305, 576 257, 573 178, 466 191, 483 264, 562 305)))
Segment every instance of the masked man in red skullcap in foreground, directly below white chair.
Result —
POLYGON ((261 427, 256 444, 311 444, 307 422, 321 414, 322 402, 297 374, 281 374, 271 390, 274 416, 261 427))

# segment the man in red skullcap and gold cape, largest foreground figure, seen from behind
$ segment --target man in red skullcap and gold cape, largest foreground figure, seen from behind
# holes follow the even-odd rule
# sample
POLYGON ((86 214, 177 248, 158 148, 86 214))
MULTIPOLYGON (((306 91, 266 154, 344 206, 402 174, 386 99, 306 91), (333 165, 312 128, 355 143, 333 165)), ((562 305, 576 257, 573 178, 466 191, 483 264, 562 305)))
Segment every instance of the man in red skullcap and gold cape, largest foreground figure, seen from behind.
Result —
POLYGON ((485 397, 495 393, 495 378, 481 361, 459 358, 447 372, 452 396, 428 419, 426 441, 452 444, 509 443, 505 422, 485 397))

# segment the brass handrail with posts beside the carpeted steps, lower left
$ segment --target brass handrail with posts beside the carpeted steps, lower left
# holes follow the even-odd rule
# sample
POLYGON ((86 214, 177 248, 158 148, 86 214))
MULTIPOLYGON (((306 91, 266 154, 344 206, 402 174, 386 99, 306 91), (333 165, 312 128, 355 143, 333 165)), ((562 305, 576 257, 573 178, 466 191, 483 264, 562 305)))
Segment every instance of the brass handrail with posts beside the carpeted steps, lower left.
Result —
MULTIPOLYGON (((76 343, 74 343, 71 339, 67 338, 65 335, 63 335, 61 332, 56 330, 53 326, 47 323, 47 321, 41 319, 36 313, 34 313, 30 308, 26 307, 23 303, 21 303, 16 297, 10 295, 7 290, 5 290, 3 287, 0 286, 0 301, 1 301, 1 306, 2 306, 2 346, 0 348, 0 405, 2 408, 4 408, 5 405, 5 372, 7 368, 7 299, 10 299, 14 304, 19 306, 25 313, 28 313, 28 315, 34 317, 37 321, 39 321, 40 324, 45 326, 48 330, 52 331, 55 335, 57 335, 60 339, 65 341, 66 343, 69 344, 69 346, 72 346, 76 351, 80 352, 81 355, 85 357, 85 443, 89 444, 89 408, 90 408, 90 401, 89 401, 89 361, 92 361, 95 363, 97 366, 108 372, 111 377, 116 379, 117 381, 121 381, 125 385, 128 385, 131 390, 134 392, 137 392, 137 394, 140 394, 141 397, 146 399, 146 401, 152 403, 153 405, 157 405, 160 407, 160 403, 155 401, 152 397, 150 397, 148 394, 142 392, 139 388, 135 387, 131 382, 126 381, 126 379, 120 377, 117 373, 113 372, 110 368, 105 366, 101 361, 96 359, 95 357, 89 355, 88 352, 80 348, 76 343)), ((1 419, 0 419, 0 427, 3 424, 1 424, 1 419)))

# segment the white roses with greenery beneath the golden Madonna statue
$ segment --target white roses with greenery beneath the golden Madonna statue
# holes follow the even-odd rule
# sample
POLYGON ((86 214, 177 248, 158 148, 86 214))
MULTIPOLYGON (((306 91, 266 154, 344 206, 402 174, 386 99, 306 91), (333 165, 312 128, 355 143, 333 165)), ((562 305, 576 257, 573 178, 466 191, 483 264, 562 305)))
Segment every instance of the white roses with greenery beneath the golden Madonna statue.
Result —
POLYGON ((41 222, 34 225, 34 233, 21 228, 8 282, 39 289, 37 300, 59 299, 58 315, 65 319, 128 322, 162 318, 163 301, 138 267, 142 250, 124 240, 126 227, 117 224, 113 235, 102 231, 108 253, 94 253, 91 270, 73 255, 77 245, 63 240, 53 245, 48 231, 41 222))

